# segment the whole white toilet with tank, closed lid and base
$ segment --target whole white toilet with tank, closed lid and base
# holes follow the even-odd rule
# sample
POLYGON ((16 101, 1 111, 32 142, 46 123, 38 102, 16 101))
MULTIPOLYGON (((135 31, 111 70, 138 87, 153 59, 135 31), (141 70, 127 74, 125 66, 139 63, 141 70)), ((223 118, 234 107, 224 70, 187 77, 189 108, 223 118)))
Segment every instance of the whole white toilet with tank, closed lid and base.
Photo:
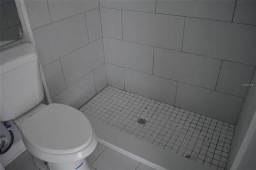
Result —
POLYGON ((97 145, 90 122, 77 109, 42 104, 44 89, 34 45, 1 51, 1 121, 13 120, 38 166, 89 170, 86 157, 97 145))

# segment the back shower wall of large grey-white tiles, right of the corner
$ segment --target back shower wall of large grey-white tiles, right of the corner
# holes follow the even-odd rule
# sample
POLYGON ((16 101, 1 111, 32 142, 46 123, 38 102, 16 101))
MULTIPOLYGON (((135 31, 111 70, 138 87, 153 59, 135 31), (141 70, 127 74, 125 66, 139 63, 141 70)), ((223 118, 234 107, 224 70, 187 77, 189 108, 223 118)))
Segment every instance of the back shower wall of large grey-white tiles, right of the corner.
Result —
POLYGON ((100 1, 108 84, 235 124, 256 66, 251 6, 100 1))

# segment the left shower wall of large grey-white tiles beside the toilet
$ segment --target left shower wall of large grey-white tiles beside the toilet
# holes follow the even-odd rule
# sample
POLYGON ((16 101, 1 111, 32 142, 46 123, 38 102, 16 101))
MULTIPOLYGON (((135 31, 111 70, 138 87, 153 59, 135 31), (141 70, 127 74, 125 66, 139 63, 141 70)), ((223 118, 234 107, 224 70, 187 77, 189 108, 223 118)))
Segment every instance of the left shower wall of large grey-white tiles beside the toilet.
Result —
POLYGON ((107 85, 98 1, 25 1, 53 103, 79 108, 107 85))

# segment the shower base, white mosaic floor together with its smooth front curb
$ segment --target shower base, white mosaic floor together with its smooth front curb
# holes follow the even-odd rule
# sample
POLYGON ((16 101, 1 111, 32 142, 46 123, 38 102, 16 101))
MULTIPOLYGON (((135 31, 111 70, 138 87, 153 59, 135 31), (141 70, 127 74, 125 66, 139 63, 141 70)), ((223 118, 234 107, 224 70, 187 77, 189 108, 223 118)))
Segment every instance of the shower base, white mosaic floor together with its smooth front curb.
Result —
POLYGON ((106 87, 80 110, 100 142, 155 169, 220 169, 234 125, 106 87), (137 123, 146 119, 145 125, 137 123), (144 162, 143 162, 144 161, 144 162))

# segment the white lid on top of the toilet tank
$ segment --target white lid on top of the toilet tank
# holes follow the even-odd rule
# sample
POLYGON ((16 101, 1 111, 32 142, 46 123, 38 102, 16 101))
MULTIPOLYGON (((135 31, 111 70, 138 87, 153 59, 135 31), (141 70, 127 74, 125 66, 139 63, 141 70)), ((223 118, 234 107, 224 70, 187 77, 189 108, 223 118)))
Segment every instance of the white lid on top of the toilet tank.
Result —
POLYGON ((15 47, 1 51, 1 75, 38 59, 36 47, 30 43, 23 43, 15 47))

